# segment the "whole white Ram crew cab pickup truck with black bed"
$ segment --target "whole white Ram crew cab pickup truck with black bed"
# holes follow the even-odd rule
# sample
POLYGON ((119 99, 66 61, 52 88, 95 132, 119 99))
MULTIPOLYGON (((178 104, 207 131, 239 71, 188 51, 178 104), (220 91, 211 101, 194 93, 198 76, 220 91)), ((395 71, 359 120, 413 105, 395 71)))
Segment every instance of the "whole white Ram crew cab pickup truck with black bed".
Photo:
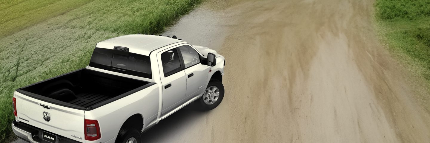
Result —
POLYGON ((217 107, 224 66, 214 50, 175 36, 115 37, 97 43, 86 68, 17 89, 12 129, 31 143, 141 143, 189 103, 217 107))

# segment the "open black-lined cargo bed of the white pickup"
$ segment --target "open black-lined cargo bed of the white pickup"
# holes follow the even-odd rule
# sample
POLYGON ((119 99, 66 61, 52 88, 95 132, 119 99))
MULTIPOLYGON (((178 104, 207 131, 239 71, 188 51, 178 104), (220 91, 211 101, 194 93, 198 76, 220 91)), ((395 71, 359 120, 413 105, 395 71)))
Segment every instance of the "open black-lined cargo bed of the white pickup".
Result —
POLYGON ((49 103, 92 110, 154 84, 80 69, 19 88, 17 91, 49 103))

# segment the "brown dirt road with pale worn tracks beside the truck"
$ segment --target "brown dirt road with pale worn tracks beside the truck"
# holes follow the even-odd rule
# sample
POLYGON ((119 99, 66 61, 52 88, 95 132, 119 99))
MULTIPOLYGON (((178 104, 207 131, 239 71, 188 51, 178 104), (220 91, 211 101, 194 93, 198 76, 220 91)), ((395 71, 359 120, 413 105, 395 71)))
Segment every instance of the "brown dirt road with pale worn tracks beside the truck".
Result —
POLYGON ((372 0, 209 1, 163 35, 218 49, 225 97, 147 142, 424 143, 428 94, 378 42, 372 0))

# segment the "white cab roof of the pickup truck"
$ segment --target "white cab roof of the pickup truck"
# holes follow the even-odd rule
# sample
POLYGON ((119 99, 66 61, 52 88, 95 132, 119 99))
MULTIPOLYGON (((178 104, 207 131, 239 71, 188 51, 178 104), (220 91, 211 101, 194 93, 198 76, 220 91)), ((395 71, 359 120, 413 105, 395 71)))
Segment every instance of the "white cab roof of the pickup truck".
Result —
POLYGON ((114 49, 115 46, 120 46, 129 48, 129 52, 149 56, 156 49, 179 42, 184 41, 156 35, 133 34, 101 41, 95 47, 114 49))

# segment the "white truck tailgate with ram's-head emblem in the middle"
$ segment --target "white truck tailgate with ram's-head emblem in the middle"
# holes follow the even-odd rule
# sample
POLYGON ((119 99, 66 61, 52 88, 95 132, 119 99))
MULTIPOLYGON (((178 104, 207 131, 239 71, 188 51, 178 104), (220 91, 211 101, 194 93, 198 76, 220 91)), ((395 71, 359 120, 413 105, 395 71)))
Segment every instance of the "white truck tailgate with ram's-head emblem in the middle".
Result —
POLYGON ((84 142, 84 112, 38 100, 15 91, 18 121, 79 142, 84 142), (49 106, 50 109, 42 105, 49 106), (82 139, 76 138, 81 137, 82 139))

